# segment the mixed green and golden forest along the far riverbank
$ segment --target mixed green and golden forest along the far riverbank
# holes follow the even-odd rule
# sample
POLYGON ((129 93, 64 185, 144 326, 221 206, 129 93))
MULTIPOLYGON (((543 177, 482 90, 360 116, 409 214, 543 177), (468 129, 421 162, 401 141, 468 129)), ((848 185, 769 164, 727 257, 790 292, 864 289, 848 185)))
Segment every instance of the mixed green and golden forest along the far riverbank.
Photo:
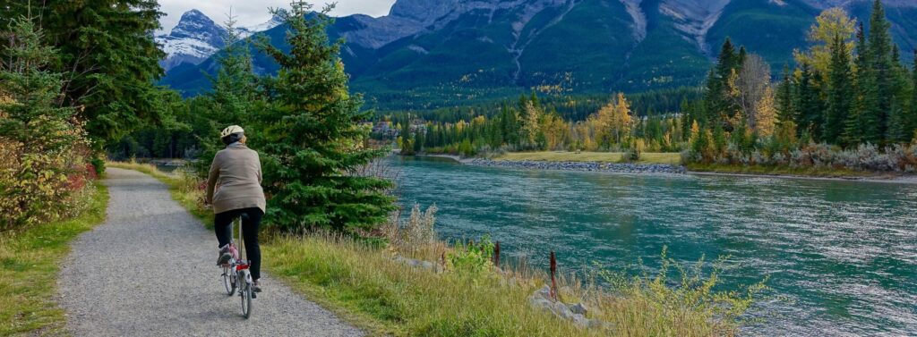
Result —
POLYGON ((808 31, 810 48, 794 52, 796 65, 779 81, 763 58, 727 38, 700 93, 677 104, 617 93, 583 116, 533 93, 490 112, 385 115, 376 136, 397 137, 404 154, 661 151, 682 152, 688 163, 912 172, 917 71, 904 65, 911 55, 892 42, 879 1, 869 27, 843 9, 825 10, 808 31))

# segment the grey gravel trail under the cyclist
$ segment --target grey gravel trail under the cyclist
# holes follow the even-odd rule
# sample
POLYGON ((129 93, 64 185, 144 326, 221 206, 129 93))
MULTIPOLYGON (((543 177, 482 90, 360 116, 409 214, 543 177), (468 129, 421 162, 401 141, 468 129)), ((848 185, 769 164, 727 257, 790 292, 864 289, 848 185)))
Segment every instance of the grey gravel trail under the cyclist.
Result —
MULTIPOLYGON (((216 238, 159 180, 108 168, 105 223, 72 243, 61 305, 74 336, 359 336, 364 332, 264 278, 251 319, 226 296, 216 238)), ((271 256, 265 256, 271 263, 271 256)))

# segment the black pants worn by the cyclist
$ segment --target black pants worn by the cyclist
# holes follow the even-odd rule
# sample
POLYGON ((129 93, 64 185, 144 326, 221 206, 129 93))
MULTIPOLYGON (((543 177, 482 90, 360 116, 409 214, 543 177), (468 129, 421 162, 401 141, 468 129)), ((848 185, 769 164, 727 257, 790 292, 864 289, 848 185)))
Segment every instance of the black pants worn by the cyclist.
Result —
POLYGON ((261 216, 264 215, 260 208, 246 208, 216 214, 214 217, 216 240, 220 242, 220 247, 228 245, 233 235, 231 232, 232 221, 242 214, 248 215, 247 217, 242 217, 242 237, 245 239, 245 253, 251 261, 251 266, 249 266, 251 278, 257 280, 261 278, 261 247, 258 245, 258 227, 261 224, 261 216))

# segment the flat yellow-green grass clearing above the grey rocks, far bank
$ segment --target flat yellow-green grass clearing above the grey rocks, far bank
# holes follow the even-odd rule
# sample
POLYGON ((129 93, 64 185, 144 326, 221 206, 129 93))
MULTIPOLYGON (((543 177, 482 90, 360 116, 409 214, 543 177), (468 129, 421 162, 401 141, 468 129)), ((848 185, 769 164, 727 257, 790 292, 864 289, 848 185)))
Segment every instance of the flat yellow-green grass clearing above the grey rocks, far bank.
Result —
MULTIPOLYGON (((566 151, 541 151, 541 152, 508 152, 494 160, 540 160, 540 161, 591 161, 600 163, 620 163, 624 159, 621 152, 566 152, 566 151)), ((642 153, 640 164, 669 164, 679 165, 679 153, 642 153)))

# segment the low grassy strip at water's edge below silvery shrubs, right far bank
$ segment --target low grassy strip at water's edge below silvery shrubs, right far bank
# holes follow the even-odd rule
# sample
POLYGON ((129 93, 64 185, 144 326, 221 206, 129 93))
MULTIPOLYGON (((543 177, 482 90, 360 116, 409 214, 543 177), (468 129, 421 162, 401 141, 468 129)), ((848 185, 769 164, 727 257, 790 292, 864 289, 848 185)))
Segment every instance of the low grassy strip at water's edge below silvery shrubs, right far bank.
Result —
POLYGON ((868 172, 848 168, 790 168, 789 166, 746 166, 732 164, 688 164, 688 170, 695 172, 755 174, 771 176, 800 176, 818 178, 857 178, 873 176, 868 172))

